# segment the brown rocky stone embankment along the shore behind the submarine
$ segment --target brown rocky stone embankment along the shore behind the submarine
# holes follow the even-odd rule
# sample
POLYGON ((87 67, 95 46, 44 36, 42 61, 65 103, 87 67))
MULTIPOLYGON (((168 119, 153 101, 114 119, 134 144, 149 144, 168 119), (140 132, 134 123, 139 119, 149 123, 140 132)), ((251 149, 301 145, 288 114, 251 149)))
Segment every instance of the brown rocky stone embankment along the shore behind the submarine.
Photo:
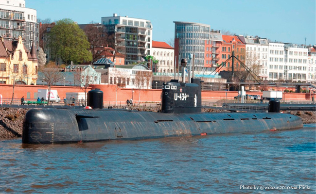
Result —
MULTIPOLYGON (((126 107, 116 107, 125 109, 126 107)), ((159 112, 160 107, 127 107, 129 110, 159 112)), ((23 119, 26 112, 30 109, 23 108, 0 108, 0 138, 15 138, 22 136, 23 119)), ((227 110, 206 109, 202 108, 202 112, 207 113, 230 113, 227 110)), ((286 111, 299 116, 304 124, 316 122, 316 112, 312 111, 286 111)))

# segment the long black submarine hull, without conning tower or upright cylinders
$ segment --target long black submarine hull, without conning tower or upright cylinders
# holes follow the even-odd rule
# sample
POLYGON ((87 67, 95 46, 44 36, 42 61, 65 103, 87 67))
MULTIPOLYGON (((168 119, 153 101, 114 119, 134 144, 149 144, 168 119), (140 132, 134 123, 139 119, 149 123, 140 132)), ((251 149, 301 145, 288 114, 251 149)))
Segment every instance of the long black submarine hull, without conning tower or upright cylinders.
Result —
POLYGON ((33 109, 26 113, 22 143, 191 137, 302 128, 285 113, 153 113, 120 109, 33 109))

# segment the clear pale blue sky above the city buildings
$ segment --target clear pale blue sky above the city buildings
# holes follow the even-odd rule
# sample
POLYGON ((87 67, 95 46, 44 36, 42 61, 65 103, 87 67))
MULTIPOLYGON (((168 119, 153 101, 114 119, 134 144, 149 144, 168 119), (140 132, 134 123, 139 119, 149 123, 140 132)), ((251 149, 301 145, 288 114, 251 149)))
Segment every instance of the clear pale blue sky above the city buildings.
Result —
POLYGON ((208 24, 237 35, 271 41, 316 44, 316 0, 26 0, 37 18, 70 18, 78 24, 101 23, 101 17, 151 20, 153 40, 175 36, 174 21, 208 24))

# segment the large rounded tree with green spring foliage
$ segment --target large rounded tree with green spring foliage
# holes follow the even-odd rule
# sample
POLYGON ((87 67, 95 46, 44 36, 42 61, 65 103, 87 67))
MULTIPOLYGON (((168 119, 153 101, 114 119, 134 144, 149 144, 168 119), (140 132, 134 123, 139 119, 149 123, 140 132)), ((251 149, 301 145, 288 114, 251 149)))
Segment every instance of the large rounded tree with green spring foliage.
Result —
POLYGON ((49 33, 49 48, 53 55, 60 57, 66 65, 91 61, 90 44, 87 36, 79 26, 69 18, 61 19, 49 33))

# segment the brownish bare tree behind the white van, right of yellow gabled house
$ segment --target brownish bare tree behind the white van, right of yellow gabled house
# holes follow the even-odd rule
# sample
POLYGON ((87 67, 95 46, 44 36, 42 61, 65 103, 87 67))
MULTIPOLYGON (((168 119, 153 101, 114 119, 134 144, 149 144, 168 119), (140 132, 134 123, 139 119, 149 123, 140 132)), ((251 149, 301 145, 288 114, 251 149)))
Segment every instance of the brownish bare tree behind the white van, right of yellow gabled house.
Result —
POLYGON ((47 65, 40 67, 40 71, 41 75, 39 76, 39 78, 42 81, 45 81, 48 85, 48 102, 50 102, 51 87, 53 84, 63 79, 62 72, 59 71, 58 66, 55 65, 53 62, 50 62, 47 65))

